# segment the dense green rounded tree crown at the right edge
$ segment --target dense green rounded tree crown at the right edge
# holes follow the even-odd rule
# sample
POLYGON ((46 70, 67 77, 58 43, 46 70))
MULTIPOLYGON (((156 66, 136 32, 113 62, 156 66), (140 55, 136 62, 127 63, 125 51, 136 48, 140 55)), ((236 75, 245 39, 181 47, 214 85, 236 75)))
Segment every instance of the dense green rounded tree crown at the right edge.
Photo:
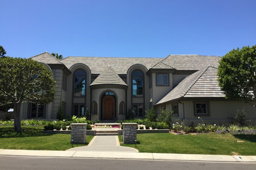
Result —
POLYGON ((226 97, 245 101, 255 99, 256 45, 233 49, 219 63, 219 86, 226 97))

